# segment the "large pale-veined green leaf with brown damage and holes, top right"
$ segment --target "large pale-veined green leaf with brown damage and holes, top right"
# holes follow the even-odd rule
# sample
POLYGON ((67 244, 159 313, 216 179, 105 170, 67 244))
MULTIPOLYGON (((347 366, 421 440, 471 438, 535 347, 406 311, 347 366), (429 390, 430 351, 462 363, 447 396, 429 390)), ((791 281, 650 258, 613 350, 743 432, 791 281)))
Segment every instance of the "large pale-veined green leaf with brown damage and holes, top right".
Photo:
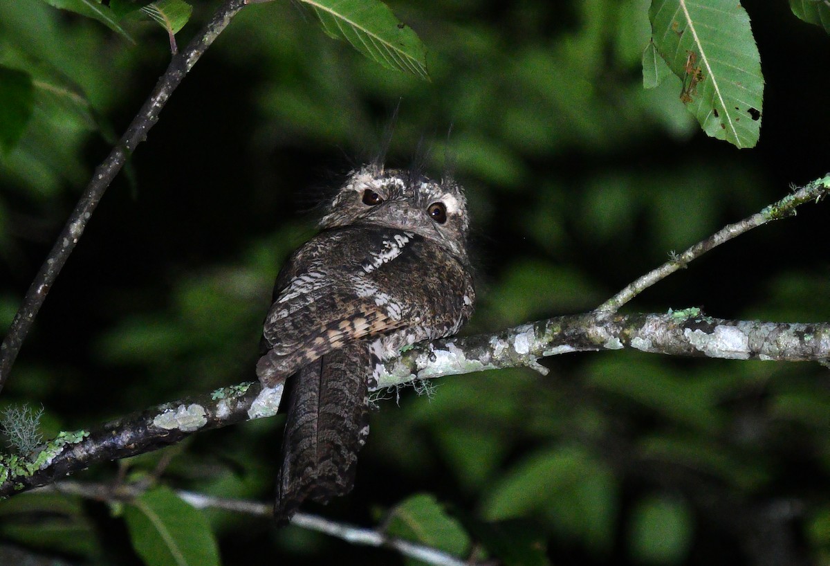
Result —
POLYGON ((706 134, 758 143, 764 77, 749 16, 734 0, 653 0, 652 41, 683 81, 681 101, 706 134))

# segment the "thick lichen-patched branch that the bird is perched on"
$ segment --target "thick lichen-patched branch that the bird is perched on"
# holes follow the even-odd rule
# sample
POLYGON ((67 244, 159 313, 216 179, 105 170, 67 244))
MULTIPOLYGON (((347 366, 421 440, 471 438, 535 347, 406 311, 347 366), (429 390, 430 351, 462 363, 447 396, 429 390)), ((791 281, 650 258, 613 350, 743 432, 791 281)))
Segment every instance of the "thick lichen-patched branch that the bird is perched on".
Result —
MULTIPOLYGON (((486 369, 529 367, 556 354, 633 348, 650 354, 781 362, 830 359, 830 324, 720 320, 700 309, 665 315, 560 316, 498 334, 418 344, 386 364, 378 388, 486 369)), ((276 414, 282 386, 258 383, 164 403, 90 431, 61 432, 30 456, 0 455, 0 496, 46 485, 95 462, 134 456, 194 432, 276 414)))

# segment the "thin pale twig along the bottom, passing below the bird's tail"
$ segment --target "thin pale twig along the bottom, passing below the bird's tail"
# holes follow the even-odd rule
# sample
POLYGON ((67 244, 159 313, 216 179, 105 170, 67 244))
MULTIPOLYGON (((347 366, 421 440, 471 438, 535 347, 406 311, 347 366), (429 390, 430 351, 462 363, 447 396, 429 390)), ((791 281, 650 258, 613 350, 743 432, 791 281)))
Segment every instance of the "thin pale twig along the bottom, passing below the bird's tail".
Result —
MULTIPOLYGON (((55 490, 64 494, 80 495, 86 499, 96 501, 129 502, 135 497, 141 495, 146 488, 143 486, 136 487, 132 485, 122 485, 116 489, 113 489, 112 486, 106 484, 81 483, 79 481, 59 481, 56 484, 50 485, 44 489, 55 490)), ((270 503, 213 497, 212 495, 204 495, 202 493, 188 490, 176 490, 176 494, 197 509, 221 509, 232 511, 234 513, 256 515, 257 517, 263 517, 267 520, 273 519, 273 505, 270 503)), ((404 556, 408 556, 409 558, 422 560, 427 564, 435 564, 436 566, 470 566, 471 564, 457 559, 455 556, 452 556, 452 554, 447 554, 442 550, 435 549, 430 546, 413 543, 411 541, 398 539, 396 537, 390 537, 388 534, 384 534, 380 530, 364 529, 357 525, 339 523, 337 521, 325 519, 319 515, 297 513, 291 520, 291 525, 329 534, 330 536, 343 539, 351 544, 393 549, 404 556)))

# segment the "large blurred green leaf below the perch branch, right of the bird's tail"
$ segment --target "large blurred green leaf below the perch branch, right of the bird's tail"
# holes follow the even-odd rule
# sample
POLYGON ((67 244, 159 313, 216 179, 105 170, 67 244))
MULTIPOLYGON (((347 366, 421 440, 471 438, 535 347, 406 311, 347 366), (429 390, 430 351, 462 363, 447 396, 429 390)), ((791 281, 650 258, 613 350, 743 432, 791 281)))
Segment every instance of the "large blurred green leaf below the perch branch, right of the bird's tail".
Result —
POLYGON ((546 517, 565 540, 598 554, 610 549, 618 506, 612 471, 579 446, 540 451, 515 466, 482 503, 487 520, 546 517))

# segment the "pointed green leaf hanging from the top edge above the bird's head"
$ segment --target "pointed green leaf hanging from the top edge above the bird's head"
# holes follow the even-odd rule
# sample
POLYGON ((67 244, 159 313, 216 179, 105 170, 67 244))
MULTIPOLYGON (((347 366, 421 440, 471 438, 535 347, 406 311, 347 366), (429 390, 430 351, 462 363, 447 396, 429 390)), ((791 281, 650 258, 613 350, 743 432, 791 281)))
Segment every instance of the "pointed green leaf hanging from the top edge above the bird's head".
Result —
POLYGON ((314 8, 323 29, 355 49, 396 71, 429 80, 427 52, 411 27, 398 21, 378 0, 301 0, 314 8))

